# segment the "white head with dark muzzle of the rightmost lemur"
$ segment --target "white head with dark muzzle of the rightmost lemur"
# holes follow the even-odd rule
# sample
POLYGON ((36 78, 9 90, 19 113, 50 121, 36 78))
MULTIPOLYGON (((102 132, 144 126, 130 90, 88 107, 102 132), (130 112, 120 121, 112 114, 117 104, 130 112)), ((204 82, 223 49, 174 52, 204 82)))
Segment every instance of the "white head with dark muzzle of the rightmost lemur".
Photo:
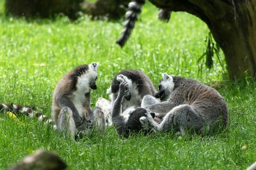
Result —
POLYGON ((159 83, 158 92, 155 95, 155 97, 159 98, 161 101, 168 99, 174 88, 173 76, 170 76, 167 73, 162 73, 162 77, 163 79, 159 83))

